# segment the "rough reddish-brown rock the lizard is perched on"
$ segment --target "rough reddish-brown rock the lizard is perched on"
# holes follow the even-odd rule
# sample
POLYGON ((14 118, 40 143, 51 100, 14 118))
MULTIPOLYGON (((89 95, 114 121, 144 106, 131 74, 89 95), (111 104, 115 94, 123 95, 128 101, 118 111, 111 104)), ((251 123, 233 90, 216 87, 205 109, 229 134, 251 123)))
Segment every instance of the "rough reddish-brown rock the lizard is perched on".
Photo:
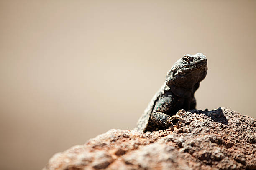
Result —
POLYGON ((109 130, 56 153, 43 170, 256 169, 256 120, 225 107, 186 112, 174 128, 109 130))

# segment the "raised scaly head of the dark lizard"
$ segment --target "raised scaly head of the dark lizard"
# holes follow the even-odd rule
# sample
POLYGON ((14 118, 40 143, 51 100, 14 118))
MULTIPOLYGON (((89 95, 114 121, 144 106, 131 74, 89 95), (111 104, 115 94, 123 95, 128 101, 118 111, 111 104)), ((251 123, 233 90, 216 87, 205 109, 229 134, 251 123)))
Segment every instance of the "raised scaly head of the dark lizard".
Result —
POLYGON ((184 55, 169 70, 166 76, 166 84, 169 87, 176 86, 187 90, 202 81, 207 73, 207 59, 205 55, 184 55))

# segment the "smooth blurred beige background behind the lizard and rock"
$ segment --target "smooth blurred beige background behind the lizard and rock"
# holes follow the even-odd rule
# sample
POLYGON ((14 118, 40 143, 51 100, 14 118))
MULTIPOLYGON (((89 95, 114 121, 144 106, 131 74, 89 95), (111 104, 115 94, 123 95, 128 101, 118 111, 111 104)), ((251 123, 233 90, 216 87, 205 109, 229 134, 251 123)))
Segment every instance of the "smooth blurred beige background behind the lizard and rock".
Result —
POLYGON ((256 117, 256 1, 0 1, 0 169, 132 129, 186 53, 204 53, 197 108, 256 117))

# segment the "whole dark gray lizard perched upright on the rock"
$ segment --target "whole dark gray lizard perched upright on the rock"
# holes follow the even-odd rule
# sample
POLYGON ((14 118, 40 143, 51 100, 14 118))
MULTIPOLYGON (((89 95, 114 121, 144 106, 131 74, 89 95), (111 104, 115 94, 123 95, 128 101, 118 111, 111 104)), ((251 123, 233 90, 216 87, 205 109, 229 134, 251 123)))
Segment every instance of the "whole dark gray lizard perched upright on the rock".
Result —
POLYGON ((205 55, 184 55, 169 70, 164 85, 156 92, 134 130, 147 132, 173 126, 184 110, 195 109, 195 91, 207 74, 205 55))

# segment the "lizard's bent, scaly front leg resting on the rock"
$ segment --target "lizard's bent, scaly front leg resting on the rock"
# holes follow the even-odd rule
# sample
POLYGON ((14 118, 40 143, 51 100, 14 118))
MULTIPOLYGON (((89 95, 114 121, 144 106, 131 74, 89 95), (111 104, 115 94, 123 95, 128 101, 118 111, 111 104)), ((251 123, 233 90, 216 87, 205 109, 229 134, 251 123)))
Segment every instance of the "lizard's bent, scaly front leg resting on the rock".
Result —
POLYGON ((157 125, 167 128, 169 126, 173 126, 172 120, 174 117, 171 117, 164 112, 167 112, 174 105, 174 99, 171 97, 164 97, 158 102, 154 107, 154 110, 151 114, 151 120, 155 122, 157 125))

